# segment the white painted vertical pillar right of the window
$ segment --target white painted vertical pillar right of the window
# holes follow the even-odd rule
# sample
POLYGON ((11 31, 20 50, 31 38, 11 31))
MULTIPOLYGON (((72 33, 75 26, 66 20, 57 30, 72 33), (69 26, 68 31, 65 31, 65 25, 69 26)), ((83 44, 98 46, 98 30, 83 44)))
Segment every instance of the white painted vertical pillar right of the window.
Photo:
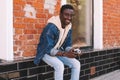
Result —
POLYGON ((103 0, 94 0, 94 49, 103 49, 103 0))

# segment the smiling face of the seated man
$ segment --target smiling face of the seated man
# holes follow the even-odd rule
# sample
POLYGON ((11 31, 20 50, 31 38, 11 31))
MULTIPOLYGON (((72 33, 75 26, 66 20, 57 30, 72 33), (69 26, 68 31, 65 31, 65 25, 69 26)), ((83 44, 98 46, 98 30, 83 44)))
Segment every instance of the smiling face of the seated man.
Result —
POLYGON ((60 14, 62 25, 64 25, 64 26, 68 25, 72 21, 73 15, 74 15, 74 10, 72 10, 72 9, 65 9, 60 14))

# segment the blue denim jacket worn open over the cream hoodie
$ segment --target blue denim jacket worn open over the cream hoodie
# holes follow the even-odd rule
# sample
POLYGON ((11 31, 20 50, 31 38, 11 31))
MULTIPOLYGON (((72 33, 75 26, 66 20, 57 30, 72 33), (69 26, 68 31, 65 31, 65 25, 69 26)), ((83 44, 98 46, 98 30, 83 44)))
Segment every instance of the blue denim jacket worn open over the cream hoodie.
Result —
POLYGON ((62 46, 60 47, 60 49, 58 50, 53 49, 55 44, 58 41, 59 32, 60 31, 58 30, 55 24, 48 23, 46 25, 46 27, 44 28, 40 36, 40 39, 39 39, 40 41, 37 46, 37 53, 34 59, 34 63, 36 65, 40 63, 41 59, 43 58, 45 54, 51 55, 51 51, 57 53, 57 51, 59 50, 69 51, 71 49, 71 44, 72 44, 72 39, 71 39, 72 30, 71 29, 69 30, 67 37, 64 43, 62 44, 62 46))

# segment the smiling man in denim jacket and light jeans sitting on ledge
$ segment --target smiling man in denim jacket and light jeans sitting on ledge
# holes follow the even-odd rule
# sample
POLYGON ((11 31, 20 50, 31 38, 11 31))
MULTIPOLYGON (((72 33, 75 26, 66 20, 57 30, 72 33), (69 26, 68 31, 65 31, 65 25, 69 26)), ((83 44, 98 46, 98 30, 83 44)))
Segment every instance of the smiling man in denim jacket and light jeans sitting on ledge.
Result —
POLYGON ((45 63, 54 68, 54 80, 63 80, 64 65, 71 68, 71 79, 79 80, 80 62, 75 59, 77 54, 72 48, 71 21, 74 15, 74 8, 63 5, 60 15, 53 16, 47 22, 37 47, 35 64, 39 64, 42 59, 45 63))

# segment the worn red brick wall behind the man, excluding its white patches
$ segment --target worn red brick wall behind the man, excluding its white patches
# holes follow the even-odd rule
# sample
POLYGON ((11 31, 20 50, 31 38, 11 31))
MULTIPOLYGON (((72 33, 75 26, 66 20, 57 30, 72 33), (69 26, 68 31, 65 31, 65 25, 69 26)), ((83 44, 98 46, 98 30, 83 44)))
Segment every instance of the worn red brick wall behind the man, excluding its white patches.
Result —
POLYGON ((60 0, 57 0, 54 14, 44 9, 44 0, 14 0, 14 54, 15 57, 30 57, 36 53, 36 46, 47 19, 59 13, 60 0), (30 4, 37 11, 36 18, 25 17, 23 10, 30 4))

